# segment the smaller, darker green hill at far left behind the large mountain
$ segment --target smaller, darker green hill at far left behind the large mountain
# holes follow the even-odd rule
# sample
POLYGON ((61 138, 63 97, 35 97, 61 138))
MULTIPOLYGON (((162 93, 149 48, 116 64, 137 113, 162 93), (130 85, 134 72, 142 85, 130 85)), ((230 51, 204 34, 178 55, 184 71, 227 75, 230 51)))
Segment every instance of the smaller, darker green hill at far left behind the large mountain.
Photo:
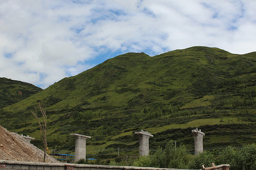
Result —
POLYGON ((0 78, 0 109, 26 99, 41 90, 29 83, 0 78))

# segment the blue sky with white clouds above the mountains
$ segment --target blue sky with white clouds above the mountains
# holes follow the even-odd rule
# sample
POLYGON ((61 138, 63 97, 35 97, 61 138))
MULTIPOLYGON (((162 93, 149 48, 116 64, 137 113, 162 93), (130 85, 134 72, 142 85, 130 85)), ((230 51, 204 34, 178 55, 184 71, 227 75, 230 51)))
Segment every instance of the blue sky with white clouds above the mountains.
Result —
POLYGON ((0 77, 46 88, 127 52, 256 51, 256 0, 0 0, 0 77))

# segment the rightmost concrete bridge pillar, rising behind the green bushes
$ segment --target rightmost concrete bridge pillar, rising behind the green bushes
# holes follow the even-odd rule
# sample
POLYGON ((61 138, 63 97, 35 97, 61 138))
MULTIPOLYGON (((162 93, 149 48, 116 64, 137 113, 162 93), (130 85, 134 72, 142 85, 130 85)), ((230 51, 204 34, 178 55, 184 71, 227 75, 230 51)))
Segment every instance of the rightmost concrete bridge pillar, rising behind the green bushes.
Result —
POLYGON ((203 152, 203 136, 205 135, 201 132, 201 129, 193 129, 192 133, 194 134, 194 154, 197 155, 200 152, 203 152))

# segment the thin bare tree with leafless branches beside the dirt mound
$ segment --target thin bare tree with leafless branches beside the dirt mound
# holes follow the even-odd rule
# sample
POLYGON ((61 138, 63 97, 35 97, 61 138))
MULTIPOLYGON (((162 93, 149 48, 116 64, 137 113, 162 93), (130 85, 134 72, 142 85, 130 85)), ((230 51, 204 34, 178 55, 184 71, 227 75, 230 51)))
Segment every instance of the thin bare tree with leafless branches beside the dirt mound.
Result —
POLYGON ((36 118, 39 126, 40 126, 40 132, 41 132, 41 141, 43 142, 44 145, 44 156, 43 156, 43 162, 45 162, 45 157, 46 157, 46 149, 47 149, 47 139, 46 139, 46 125, 47 125, 47 117, 46 117, 46 111, 44 110, 43 106, 40 105, 38 102, 38 109, 40 113, 42 114, 42 117, 39 117, 37 115, 37 109, 35 107, 35 112, 31 113, 34 115, 36 118))

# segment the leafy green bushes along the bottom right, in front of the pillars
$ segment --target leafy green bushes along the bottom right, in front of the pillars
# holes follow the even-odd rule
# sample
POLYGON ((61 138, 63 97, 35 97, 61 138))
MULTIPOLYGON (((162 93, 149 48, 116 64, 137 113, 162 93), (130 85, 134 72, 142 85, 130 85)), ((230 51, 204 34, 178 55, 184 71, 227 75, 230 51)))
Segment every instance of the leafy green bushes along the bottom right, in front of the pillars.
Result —
POLYGON ((215 165, 229 164, 230 170, 255 170, 256 169, 256 145, 245 145, 242 148, 230 146, 222 151, 204 151, 194 156, 181 144, 175 148, 174 142, 169 141, 164 149, 159 147, 156 152, 141 157, 124 157, 110 161, 110 165, 176 168, 198 170, 215 165))

